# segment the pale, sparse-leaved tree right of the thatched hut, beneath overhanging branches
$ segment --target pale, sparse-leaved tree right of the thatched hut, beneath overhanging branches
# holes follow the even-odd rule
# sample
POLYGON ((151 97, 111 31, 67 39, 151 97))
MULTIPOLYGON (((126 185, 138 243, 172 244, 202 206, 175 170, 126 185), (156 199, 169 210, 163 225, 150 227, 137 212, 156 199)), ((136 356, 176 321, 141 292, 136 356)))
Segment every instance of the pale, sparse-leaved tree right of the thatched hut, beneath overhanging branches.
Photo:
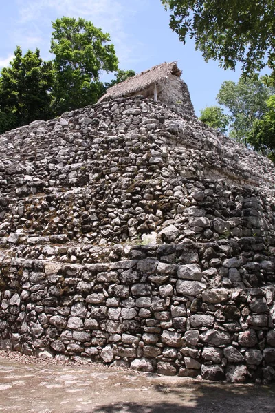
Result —
POLYGON ((240 78, 238 83, 225 81, 217 96, 219 105, 224 105, 230 112, 230 136, 248 143, 248 133, 254 120, 259 119, 267 111, 267 98, 272 88, 267 87, 261 79, 240 78))

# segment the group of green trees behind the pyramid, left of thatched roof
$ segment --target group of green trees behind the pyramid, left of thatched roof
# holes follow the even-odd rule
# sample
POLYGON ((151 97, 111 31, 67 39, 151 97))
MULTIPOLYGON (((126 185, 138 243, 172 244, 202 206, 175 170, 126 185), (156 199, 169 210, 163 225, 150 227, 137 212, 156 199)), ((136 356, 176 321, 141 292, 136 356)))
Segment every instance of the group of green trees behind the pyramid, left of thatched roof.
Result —
POLYGON ((43 61, 38 49, 23 56, 18 46, 10 66, 1 70, 0 134, 96 103, 107 87, 135 75, 118 68, 109 34, 91 21, 63 17, 53 28, 53 61, 43 61), (110 83, 100 81, 102 72, 113 71, 110 83))

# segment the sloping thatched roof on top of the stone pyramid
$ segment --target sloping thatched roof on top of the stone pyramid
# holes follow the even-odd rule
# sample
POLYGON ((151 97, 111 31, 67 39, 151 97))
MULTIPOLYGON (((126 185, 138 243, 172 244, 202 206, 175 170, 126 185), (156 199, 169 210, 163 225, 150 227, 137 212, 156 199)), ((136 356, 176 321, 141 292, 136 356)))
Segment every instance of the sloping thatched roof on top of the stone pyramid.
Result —
POLYGON ((177 62, 162 63, 162 65, 157 65, 151 69, 145 70, 140 74, 126 79, 126 81, 119 83, 113 87, 107 89, 106 94, 102 96, 98 103, 102 100, 120 98, 122 96, 128 96, 129 94, 136 94, 146 87, 161 81, 166 78, 169 74, 174 74, 175 76, 181 76, 181 70, 177 67, 177 62))

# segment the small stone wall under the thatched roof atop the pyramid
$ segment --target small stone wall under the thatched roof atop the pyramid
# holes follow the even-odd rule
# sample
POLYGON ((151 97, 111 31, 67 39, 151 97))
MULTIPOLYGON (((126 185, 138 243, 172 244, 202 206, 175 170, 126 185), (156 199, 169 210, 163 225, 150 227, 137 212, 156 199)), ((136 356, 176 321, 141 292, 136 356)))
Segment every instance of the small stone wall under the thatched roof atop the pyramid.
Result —
POLYGON ((159 83, 159 89, 158 100, 177 110, 177 112, 195 116, 188 87, 181 78, 170 74, 159 83))

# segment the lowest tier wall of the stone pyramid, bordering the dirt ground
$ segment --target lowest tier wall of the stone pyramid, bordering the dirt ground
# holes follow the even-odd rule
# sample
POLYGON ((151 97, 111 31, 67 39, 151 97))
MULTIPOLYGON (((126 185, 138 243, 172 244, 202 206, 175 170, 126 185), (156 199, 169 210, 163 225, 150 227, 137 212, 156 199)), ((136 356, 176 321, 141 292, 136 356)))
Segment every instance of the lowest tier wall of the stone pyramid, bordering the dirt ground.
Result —
POLYGON ((245 287, 247 274, 257 285, 274 280, 274 261, 250 262, 253 250, 227 242, 124 254, 113 263, 4 263, 1 348, 211 380, 274 379, 275 288, 245 287))

